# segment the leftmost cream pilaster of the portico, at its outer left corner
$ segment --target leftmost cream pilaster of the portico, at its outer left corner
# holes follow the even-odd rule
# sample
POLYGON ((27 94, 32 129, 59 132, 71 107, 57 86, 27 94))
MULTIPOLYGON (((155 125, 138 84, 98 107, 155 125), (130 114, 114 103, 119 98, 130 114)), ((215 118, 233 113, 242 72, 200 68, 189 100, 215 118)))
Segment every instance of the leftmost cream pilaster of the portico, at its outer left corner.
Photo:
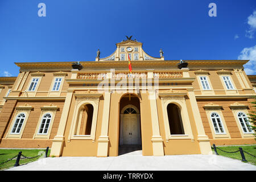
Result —
POLYGON ((60 117, 59 128, 57 130, 56 136, 52 140, 52 147, 51 147, 51 154, 50 156, 57 156, 59 157, 63 148, 63 142, 65 140, 64 133, 65 127, 68 121, 68 113, 71 106, 73 96, 73 90, 68 90, 66 100, 63 106, 63 112, 60 117))

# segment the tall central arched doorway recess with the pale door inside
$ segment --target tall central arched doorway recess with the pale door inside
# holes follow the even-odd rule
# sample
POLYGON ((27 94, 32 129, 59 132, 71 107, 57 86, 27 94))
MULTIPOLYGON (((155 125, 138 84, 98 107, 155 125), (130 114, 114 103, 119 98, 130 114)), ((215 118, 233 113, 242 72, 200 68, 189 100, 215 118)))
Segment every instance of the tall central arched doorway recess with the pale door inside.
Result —
POLYGON ((139 98, 134 94, 120 100, 119 155, 142 149, 139 106, 139 98))

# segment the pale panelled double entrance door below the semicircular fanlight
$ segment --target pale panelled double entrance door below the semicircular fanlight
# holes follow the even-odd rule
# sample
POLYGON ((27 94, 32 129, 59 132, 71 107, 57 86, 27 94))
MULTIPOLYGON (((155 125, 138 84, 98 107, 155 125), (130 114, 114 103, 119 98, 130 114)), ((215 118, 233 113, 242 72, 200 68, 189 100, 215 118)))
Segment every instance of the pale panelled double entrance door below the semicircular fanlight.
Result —
POLYGON ((123 114, 123 144, 139 144, 137 114, 123 114))

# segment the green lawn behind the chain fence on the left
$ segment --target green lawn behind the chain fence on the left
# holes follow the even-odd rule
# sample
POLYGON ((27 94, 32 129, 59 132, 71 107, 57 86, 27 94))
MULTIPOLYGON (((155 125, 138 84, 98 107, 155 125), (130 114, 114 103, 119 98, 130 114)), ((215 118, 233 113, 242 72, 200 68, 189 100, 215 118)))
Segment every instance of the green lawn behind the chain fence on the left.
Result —
MULTIPOLYGON (((13 160, 10 160, 7 163, 4 163, 4 164, 1 164, 1 163, 6 162, 7 160, 13 158, 15 155, 18 155, 19 151, 22 151, 22 154, 24 156, 31 158, 31 157, 37 156, 39 154, 42 154, 42 152, 45 151, 45 149, 41 149, 41 150, 38 150, 38 149, 0 149, 0 170, 13 167, 16 162, 16 158, 13 160)), ((48 156, 49 156, 50 152, 51 151, 48 150, 48 156)), ((42 156, 45 156, 45 155, 46 155, 46 153, 43 152, 42 155, 40 155, 34 159, 23 159, 21 157, 19 160, 19 164, 21 165, 21 164, 33 162, 35 160, 38 160, 40 157, 42 158, 42 156)))

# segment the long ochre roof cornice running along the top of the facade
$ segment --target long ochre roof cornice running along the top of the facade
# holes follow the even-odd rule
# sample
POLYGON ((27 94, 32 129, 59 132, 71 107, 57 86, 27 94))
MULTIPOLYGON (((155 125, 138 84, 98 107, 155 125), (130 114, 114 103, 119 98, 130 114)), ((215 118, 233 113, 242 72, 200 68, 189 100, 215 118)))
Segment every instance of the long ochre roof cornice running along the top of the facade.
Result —
MULTIPOLYGON (((176 67, 180 60, 144 60, 144 61, 131 61, 133 68, 148 68, 148 67, 163 67, 168 68, 176 67)), ((249 60, 185 60, 188 67, 197 69, 200 67, 218 67, 226 66, 232 68, 242 67, 249 60)), ((65 62, 31 62, 31 63, 15 63, 21 70, 38 71, 38 70, 71 70, 73 61, 65 62)), ((84 69, 88 68, 122 68, 127 67, 128 61, 80 61, 84 69)), ((176 67, 177 68, 177 67, 176 67)))

